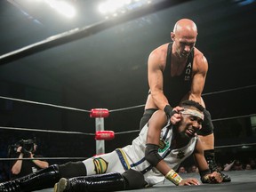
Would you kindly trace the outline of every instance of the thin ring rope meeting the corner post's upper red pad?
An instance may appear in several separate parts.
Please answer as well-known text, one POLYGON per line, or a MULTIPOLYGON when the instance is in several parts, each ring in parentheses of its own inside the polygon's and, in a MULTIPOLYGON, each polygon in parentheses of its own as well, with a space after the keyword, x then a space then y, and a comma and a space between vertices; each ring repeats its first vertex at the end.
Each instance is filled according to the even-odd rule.
MULTIPOLYGON (((242 90, 242 89, 245 89, 245 88, 252 88, 252 87, 256 87, 256 84, 247 85, 247 86, 244 86, 244 87, 236 87, 236 88, 233 88, 233 89, 228 89, 228 90, 223 90, 223 91, 208 92, 208 93, 202 94, 202 96, 217 94, 217 93, 220 93, 220 92, 232 92, 232 91, 237 91, 237 90, 242 90)), ((20 101, 20 102, 36 104, 36 105, 43 105, 43 106, 54 107, 54 108, 64 108, 64 109, 81 111, 81 112, 86 112, 86 113, 90 113, 91 112, 91 110, 86 110, 86 109, 81 109, 81 108, 70 108, 70 107, 54 105, 54 104, 49 104, 49 103, 44 103, 44 102, 37 102, 37 101, 33 101, 33 100, 20 100, 20 99, 4 97, 4 96, 0 96, 0 99, 15 100, 15 101, 20 101)), ((126 109, 131 109, 131 108, 141 108, 141 107, 145 107, 145 104, 141 104, 141 105, 137 105, 137 106, 133 106, 133 107, 127 107, 127 108, 110 109, 108 111, 109 112, 116 112, 116 111, 122 111, 122 110, 126 110, 126 109)))

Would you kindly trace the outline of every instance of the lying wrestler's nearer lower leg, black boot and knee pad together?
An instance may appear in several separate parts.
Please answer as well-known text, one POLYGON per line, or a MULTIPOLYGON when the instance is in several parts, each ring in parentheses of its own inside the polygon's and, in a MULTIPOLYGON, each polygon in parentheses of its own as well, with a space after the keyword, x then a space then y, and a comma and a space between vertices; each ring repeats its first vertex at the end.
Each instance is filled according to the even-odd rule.
POLYGON ((54 192, 92 192, 139 189, 146 185, 141 172, 127 171, 123 174, 110 172, 100 175, 61 178, 54 186, 54 192))

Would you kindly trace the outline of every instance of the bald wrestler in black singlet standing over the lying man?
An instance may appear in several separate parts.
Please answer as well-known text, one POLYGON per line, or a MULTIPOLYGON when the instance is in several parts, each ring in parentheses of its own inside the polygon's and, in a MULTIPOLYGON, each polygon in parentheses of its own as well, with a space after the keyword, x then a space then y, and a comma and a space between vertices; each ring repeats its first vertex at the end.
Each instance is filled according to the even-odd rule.
MULTIPOLYGON (((148 57, 149 92, 145 111, 140 120, 140 129, 147 124, 152 114, 163 110, 171 117, 171 123, 180 121, 180 114, 173 106, 182 100, 195 100, 204 106, 202 92, 208 71, 204 54, 196 47, 197 27, 193 20, 178 20, 171 33, 172 43, 157 47, 148 57)), ((182 108, 176 108, 180 110, 182 108)), ((204 146, 204 156, 212 172, 217 171, 214 156, 212 118, 204 109, 203 128, 198 132, 204 146)), ((221 172, 223 181, 231 181, 221 172)))

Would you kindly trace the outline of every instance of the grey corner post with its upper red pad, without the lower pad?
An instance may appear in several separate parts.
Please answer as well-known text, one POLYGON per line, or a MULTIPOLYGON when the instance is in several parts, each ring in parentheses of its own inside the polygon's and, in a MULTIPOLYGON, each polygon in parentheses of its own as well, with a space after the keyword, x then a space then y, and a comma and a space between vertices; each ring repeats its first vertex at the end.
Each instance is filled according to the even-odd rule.
MULTIPOLYGON (((109 116, 107 108, 92 108, 90 117, 95 118, 95 131, 104 131, 104 118, 109 116)), ((96 140, 96 155, 105 153, 105 140, 96 140)))

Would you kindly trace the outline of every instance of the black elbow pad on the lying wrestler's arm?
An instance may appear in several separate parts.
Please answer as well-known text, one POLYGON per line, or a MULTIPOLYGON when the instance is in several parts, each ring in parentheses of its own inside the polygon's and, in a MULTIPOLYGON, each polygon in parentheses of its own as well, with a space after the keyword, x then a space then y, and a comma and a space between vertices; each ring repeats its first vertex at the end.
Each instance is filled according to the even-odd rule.
POLYGON ((156 166, 156 164, 162 160, 162 157, 158 154, 158 148, 159 146, 156 144, 146 144, 145 159, 152 166, 156 166))

